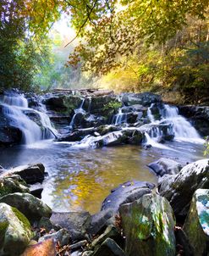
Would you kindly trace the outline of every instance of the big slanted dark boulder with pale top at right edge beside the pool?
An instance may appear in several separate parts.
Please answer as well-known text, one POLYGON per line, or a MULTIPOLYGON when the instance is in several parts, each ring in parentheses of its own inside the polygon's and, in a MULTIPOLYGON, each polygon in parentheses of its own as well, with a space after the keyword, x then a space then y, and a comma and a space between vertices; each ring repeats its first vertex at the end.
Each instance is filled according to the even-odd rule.
POLYGON ((185 216, 190 201, 198 188, 209 188, 209 159, 187 164, 179 174, 165 177, 158 186, 162 197, 170 202, 178 216, 185 216))

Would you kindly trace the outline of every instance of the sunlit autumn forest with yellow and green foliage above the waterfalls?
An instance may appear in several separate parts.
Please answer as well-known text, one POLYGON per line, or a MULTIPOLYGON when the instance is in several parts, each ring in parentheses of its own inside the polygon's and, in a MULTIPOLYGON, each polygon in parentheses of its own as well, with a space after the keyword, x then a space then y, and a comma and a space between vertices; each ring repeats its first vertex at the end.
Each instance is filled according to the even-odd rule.
POLYGON ((3 0, 1 89, 96 86, 209 103, 208 0, 3 0), (53 29, 69 17, 69 41, 53 29))

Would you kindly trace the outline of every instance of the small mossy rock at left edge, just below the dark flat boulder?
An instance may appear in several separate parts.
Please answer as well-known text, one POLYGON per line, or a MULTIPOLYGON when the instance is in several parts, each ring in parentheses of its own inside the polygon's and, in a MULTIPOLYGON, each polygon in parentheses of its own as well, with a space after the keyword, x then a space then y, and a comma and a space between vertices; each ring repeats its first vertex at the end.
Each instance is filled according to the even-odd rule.
POLYGON ((7 176, 0 178, 0 198, 9 193, 14 192, 30 192, 19 175, 7 176))

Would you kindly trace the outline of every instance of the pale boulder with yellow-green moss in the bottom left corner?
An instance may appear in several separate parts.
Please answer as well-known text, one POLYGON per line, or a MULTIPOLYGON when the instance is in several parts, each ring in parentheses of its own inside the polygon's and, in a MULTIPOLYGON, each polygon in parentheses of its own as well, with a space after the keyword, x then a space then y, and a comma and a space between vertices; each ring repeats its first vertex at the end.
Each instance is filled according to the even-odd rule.
POLYGON ((0 203, 0 255, 19 256, 32 238, 30 223, 19 210, 0 203))

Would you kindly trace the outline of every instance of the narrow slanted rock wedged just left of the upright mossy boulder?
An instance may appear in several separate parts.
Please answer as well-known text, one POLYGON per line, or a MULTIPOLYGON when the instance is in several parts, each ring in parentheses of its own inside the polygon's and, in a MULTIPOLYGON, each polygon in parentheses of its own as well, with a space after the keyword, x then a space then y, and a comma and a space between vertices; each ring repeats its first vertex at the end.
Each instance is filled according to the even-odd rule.
POLYGON ((101 236, 97 237, 92 243, 92 248, 95 248, 97 245, 102 244, 107 238, 112 238, 113 240, 119 240, 120 232, 117 227, 114 225, 107 226, 107 229, 102 233, 101 236))

